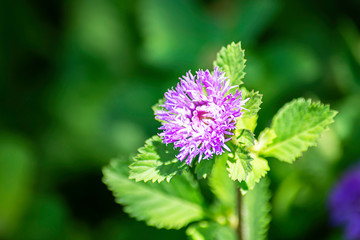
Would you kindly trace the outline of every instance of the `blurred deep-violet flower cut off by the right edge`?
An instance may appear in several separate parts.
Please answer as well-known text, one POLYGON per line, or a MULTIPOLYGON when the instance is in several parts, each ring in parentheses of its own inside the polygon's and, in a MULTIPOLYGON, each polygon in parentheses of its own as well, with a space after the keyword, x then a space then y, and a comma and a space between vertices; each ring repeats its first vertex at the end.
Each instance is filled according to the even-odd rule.
POLYGON ((360 166, 340 179, 330 194, 330 217, 333 225, 345 226, 346 239, 360 239, 360 166))

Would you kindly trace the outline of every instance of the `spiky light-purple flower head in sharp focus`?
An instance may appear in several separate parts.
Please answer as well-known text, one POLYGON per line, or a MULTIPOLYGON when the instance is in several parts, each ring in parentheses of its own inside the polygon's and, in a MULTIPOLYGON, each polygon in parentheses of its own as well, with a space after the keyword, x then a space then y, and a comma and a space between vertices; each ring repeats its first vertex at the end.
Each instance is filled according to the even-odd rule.
POLYGON ((224 149, 230 151, 225 143, 234 135, 236 118, 246 100, 239 90, 229 93, 237 86, 230 86, 224 74, 218 67, 212 75, 209 70, 199 70, 195 76, 189 71, 175 89, 165 93, 164 109, 155 113, 162 121, 159 135, 163 142, 180 148, 177 159, 186 159, 189 165, 196 156, 200 162, 224 149))

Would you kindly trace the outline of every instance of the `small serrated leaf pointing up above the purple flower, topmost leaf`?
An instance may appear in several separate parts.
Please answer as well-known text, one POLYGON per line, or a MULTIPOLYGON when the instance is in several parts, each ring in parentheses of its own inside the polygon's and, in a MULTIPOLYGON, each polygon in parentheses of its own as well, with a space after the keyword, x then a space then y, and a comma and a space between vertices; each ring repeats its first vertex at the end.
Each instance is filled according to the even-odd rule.
POLYGON ((241 85, 245 72, 245 51, 241 49, 241 43, 232 42, 226 48, 222 47, 217 54, 214 67, 219 66, 225 71, 225 76, 230 79, 230 85, 241 85))

